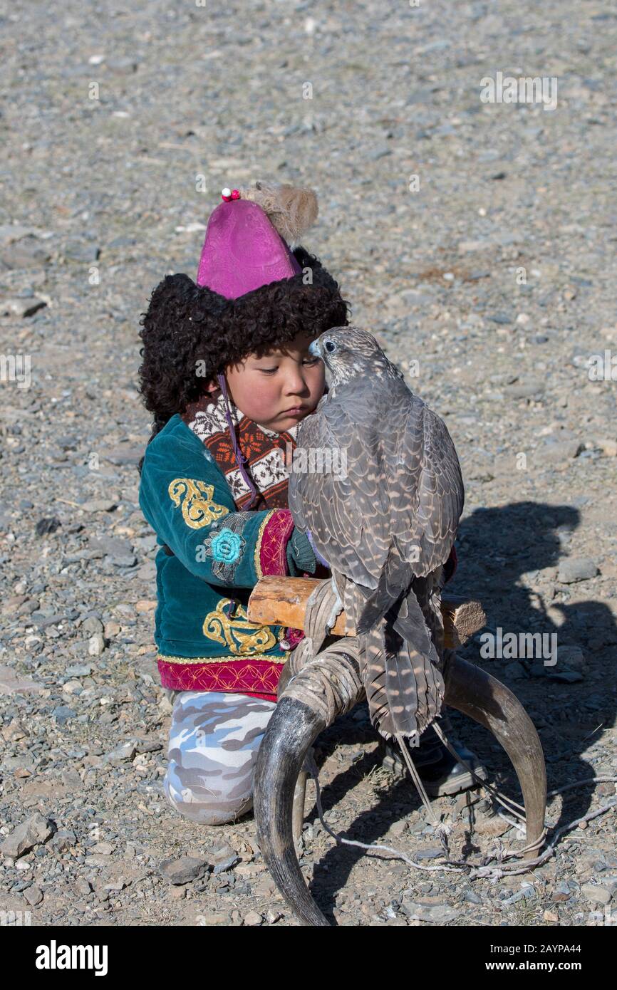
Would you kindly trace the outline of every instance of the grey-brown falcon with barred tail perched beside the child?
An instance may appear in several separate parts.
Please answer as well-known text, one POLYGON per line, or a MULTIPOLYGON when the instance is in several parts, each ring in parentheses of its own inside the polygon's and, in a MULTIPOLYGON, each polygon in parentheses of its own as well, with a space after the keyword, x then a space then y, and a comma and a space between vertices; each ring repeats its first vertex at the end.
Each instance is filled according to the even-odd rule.
POLYGON ((328 629, 345 607, 361 639, 372 725, 385 739, 413 737, 444 696, 441 592, 463 512, 461 465, 443 420, 371 334, 336 327, 310 350, 331 381, 297 446, 330 451, 326 463, 345 469, 292 464, 289 508, 332 570, 328 629))

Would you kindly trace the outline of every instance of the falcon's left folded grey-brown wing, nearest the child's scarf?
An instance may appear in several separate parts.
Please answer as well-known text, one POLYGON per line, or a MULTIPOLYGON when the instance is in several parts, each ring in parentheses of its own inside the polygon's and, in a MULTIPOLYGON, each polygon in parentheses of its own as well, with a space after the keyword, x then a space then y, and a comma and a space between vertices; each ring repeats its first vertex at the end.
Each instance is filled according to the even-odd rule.
POLYGON ((360 398, 351 392, 345 403, 330 398, 302 421, 298 446, 321 450, 325 467, 331 456, 332 469, 292 469, 288 504, 295 525, 311 531, 333 569, 372 589, 390 544, 390 505, 382 445, 374 429, 365 429, 360 398))

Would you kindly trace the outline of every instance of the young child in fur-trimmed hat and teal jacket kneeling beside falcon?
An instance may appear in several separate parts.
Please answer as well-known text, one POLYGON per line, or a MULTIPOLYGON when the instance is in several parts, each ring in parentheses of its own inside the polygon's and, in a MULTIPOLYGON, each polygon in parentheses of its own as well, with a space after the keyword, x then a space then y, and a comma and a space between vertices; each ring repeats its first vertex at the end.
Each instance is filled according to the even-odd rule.
MULTIPOLYGON (((263 574, 330 574, 287 508, 286 459, 326 387, 308 347, 348 324, 337 282, 288 244, 316 216, 311 190, 224 190, 197 284, 166 276, 143 320, 154 434, 140 505, 160 545, 154 640, 173 700, 164 789, 181 814, 207 825, 252 808, 278 678, 303 637, 250 622, 251 590, 263 574)), ((414 760, 424 751, 429 777, 456 775, 436 737, 425 737, 414 760)))

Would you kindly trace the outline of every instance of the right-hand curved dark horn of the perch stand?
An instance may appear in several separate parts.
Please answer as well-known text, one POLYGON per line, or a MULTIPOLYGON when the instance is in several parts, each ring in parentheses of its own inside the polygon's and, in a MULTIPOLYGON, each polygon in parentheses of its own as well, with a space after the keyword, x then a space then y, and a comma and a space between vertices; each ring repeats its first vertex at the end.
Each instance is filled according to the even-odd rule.
MULTIPOLYGON (((547 769, 536 727, 518 698, 485 670, 450 652, 444 669, 444 701, 495 737, 507 752, 523 792, 527 842, 540 839, 547 809, 547 769)), ((524 855, 533 859, 538 849, 524 855)))

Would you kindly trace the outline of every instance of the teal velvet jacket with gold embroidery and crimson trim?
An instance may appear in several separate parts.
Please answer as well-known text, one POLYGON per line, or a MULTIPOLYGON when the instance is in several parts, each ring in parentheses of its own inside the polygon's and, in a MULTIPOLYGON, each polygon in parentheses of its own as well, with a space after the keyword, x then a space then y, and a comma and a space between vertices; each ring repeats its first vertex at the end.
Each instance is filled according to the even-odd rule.
POLYGON ((238 512, 210 450, 178 415, 147 447, 140 506, 160 545, 154 640, 163 687, 275 700, 302 634, 249 622, 246 605, 262 575, 310 571, 290 563, 289 510, 238 512))

